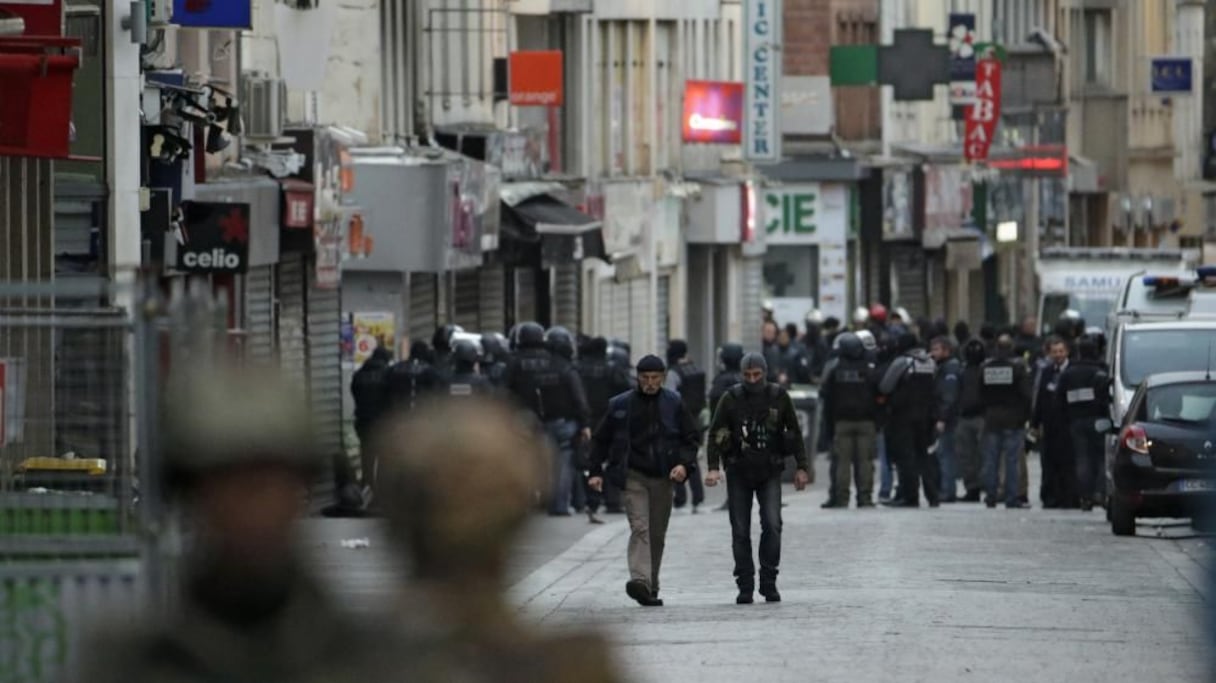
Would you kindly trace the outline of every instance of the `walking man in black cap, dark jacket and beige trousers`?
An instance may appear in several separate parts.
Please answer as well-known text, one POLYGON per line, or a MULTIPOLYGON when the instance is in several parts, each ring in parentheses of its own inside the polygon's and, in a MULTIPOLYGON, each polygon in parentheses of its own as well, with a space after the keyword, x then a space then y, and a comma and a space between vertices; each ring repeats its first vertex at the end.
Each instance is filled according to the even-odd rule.
POLYGON ((625 491, 629 515, 629 582, 625 593, 642 606, 662 606, 659 569, 671 519, 671 484, 697 465, 700 429, 680 394, 663 388, 666 366, 658 356, 637 362, 637 389, 613 397, 592 438, 596 491, 610 479, 625 491))

